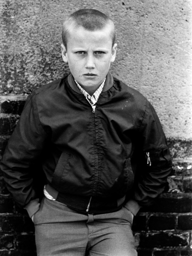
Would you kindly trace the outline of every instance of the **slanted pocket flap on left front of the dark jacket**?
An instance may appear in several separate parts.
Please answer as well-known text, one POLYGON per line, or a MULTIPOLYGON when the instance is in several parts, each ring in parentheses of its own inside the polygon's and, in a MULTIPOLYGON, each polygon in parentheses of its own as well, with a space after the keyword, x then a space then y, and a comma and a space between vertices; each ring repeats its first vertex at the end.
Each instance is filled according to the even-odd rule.
POLYGON ((61 184, 62 177, 68 173, 70 157, 71 157, 70 154, 67 154, 66 152, 62 152, 58 160, 57 166, 55 168, 55 171, 53 173, 53 178, 51 182, 53 185, 61 184))

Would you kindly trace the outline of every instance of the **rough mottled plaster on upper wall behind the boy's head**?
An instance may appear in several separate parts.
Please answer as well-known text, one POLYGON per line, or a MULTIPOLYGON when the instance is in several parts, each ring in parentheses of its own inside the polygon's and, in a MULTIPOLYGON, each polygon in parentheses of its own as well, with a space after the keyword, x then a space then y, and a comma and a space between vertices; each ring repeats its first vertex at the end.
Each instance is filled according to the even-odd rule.
POLYGON ((62 19, 79 8, 108 14, 117 27, 111 71, 155 107, 168 137, 192 138, 190 0, 0 0, 0 92, 28 94, 68 72, 62 19))

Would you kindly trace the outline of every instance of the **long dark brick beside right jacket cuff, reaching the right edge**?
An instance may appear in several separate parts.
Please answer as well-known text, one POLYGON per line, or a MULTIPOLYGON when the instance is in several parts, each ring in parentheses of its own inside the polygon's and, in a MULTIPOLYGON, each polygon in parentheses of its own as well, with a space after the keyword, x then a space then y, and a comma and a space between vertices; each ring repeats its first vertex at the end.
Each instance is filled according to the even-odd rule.
POLYGON ((152 212, 191 212, 191 193, 163 193, 151 207, 145 207, 141 211, 152 212))

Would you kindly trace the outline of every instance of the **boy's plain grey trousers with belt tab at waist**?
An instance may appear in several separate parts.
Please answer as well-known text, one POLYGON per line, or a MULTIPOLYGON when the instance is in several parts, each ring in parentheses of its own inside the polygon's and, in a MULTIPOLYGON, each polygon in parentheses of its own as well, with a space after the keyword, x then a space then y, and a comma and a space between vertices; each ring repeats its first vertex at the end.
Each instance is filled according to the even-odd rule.
POLYGON ((125 207, 83 215, 44 197, 34 215, 37 255, 136 256, 131 220, 125 207))

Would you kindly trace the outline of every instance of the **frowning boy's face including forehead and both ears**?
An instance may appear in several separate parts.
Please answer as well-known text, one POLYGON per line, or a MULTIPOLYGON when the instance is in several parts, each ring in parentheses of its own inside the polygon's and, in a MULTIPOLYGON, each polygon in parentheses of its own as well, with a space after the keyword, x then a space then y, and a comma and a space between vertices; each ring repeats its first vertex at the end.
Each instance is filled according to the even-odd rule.
POLYGON ((117 44, 112 47, 110 33, 109 26, 98 31, 72 28, 67 38, 67 51, 61 45, 63 61, 68 62, 73 77, 87 91, 99 87, 115 60, 117 44))

